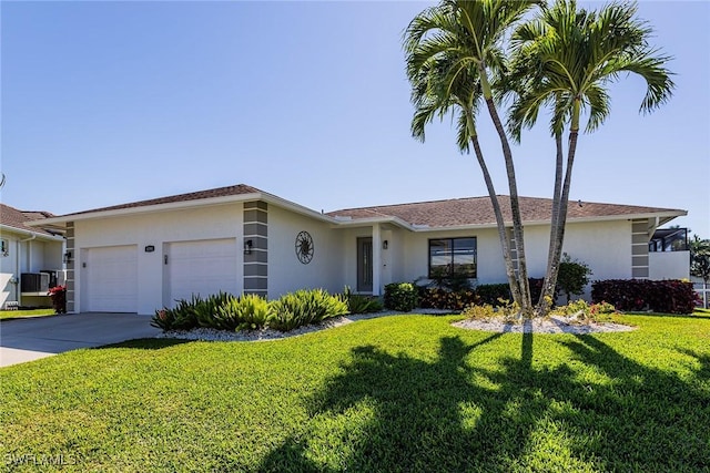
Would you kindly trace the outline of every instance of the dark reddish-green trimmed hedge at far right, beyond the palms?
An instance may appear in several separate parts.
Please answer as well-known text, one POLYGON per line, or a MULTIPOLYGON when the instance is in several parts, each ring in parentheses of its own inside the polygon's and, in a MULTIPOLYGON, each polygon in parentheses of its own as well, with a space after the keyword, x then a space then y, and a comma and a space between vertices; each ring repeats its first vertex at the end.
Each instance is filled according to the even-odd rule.
POLYGON ((608 301, 623 311, 692 313, 698 295, 680 280, 608 279, 591 285, 594 302, 608 301))

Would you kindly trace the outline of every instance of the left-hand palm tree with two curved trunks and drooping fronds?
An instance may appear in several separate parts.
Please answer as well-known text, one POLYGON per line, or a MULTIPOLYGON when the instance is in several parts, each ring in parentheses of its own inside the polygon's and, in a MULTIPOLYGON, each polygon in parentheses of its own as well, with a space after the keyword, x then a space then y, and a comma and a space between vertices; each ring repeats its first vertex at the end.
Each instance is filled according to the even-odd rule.
POLYGON ((434 116, 444 116, 458 110, 457 142, 462 151, 467 151, 470 142, 484 173, 496 213, 510 289, 525 315, 531 313, 531 304, 517 181, 513 153, 493 95, 491 74, 504 63, 501 44, 506 32, 536 3, 534 0, 442 0, 415 17, 405 31, 407 75, 417 109, 412 125, 413 134, 424 138, 424 126, 434 116), (478 144, 476 112, 481 101, 498 132, 506 164, 517 275, 513 267, 510 239, 478 144))

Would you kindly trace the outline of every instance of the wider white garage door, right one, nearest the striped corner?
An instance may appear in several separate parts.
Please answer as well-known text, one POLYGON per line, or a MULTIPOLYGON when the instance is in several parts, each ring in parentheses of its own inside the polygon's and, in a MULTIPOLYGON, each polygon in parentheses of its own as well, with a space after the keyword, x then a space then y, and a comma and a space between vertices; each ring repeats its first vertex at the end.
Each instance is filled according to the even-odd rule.
MULTIPOLYGON (((192 295, 236 294, 236 239, 176 241, 168 245, 165 306, 192 295)), ((240 271, 241 273, 241 271, 240 271)))

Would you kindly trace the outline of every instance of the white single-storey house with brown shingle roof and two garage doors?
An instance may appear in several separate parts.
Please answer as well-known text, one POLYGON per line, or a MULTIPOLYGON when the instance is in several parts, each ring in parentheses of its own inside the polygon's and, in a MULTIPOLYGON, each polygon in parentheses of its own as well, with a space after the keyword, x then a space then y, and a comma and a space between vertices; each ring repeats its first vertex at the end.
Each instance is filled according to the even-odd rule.
MULTIPOLYGON (((501 206, 509 207, 501 196, 501 206)), ((542 277, 551 202, 521 198, 529 275, 542 277)), ((570 203, 565 251, 595 279, 649 278, 653 232, 684 210, 570 203)), ((508 220, 509 218, 506 217, 508 220)), ((36 226, 39 223, 30 223, 36 226)), ((236 185, 49 218, 67 233, 68 310, 153 313, 192 294, 301 288, 381 295, 453 268, 505 282, 488 197, 327 214, 236 185)), ((662 277, 662 274, 660 274, 662 277)))

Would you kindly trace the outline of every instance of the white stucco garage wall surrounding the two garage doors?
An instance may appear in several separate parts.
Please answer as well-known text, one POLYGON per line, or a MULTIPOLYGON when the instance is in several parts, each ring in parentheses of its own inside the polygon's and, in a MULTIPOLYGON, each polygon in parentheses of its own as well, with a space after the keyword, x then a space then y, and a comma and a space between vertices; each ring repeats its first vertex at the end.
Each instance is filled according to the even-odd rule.
MULTIPOLYGON (((138 245, 138 312, 152 315, 163 307, 163 245, 171 241, 240 237, 242 204, 217 205, 200 209, 164 210, 160 213, 75 222, 75 311, 82 304, 82 251, 87 248, 138 245), (155 251, 145 253, 152 245, 155 251)), ((241 244, 241 239, 237 238, 241 244)), ((85 254, 85 251, 83 251, 85 254)), ((241 276, 242 251, 237 251, 241 276)), ((237 278, 241 285, 242 278, 237 278)), ((234 294, 241 294, 235 287, 234 294)))

